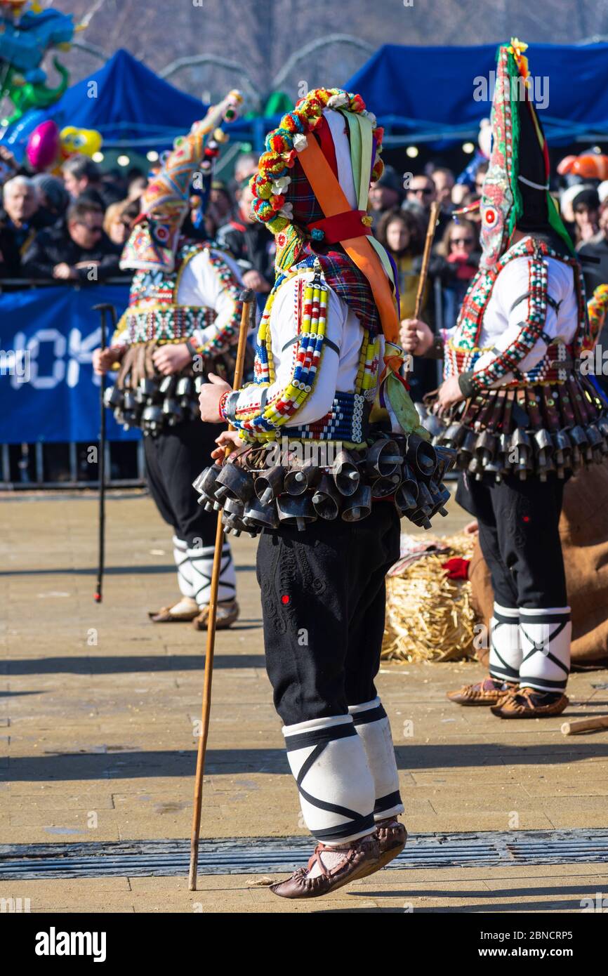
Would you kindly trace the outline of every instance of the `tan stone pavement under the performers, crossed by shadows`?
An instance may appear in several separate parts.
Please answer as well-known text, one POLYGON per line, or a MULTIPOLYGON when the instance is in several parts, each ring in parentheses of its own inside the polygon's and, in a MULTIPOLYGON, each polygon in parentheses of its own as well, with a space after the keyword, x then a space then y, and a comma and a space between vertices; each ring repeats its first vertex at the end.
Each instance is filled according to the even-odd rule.
MULTIPOLYGON (((98 606, 95 496, 0 506, 0 843, 189 837, 205 634, 147 622, 175 592, 166 526, 142 493, 110 496, 98 606)), ((440 529, 466 520, 451 503, 440 529)), ((305 834, 263 668, 255 546, 234 543, 241 618, 218 634, 204 837, 305 834)), ((501 722, 446 701, 481 673, 381 671, 409 832, 605 828, 608 734, 566 739, 561 718, 501 722)), ((608 676, 575 674, 569 693, 568 715, 606 712, 608 676)), ((298 904, 259 880, 201 875, 192 893, 182 877, 0 881, 0 898, 33 912, 559 912, 608 892, 608 867, 391 870, 298 904)))

